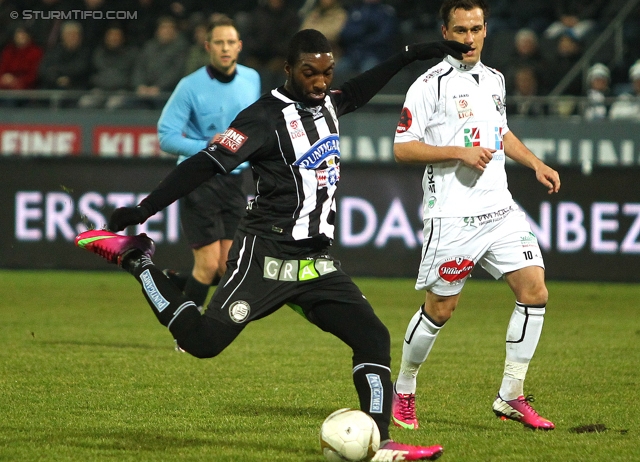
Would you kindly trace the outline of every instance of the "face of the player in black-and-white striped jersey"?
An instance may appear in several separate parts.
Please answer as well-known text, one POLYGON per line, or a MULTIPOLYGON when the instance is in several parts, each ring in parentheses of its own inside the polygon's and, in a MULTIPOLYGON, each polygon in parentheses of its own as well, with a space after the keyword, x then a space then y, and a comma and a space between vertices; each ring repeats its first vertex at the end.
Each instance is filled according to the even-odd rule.
POLYGON ((329 91, 334 67, 333 53, 301 53, 296 63, 285 64, 285 88, 307 106, 318 106, 329 91))

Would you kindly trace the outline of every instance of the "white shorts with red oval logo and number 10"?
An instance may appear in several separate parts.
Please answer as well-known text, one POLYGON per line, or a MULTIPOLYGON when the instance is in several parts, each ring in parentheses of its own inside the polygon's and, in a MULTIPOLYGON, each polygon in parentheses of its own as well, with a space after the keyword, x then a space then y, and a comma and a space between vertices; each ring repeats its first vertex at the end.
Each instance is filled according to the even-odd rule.
POLYGON ((516 205, 476 217, 432 218, 423 235, 417 290, 459 294, 478 263, 496 279, 527 266, 544 268, 538 240, 516 205))

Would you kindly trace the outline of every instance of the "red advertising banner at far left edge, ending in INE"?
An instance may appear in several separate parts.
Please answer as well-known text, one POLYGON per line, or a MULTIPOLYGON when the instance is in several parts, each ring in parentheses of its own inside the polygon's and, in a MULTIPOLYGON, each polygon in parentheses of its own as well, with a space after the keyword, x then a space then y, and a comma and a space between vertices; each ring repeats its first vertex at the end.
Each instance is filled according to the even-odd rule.
POLYGON ((81 147, 80 125, 0 124, 2 155, 79 155, 81 147))

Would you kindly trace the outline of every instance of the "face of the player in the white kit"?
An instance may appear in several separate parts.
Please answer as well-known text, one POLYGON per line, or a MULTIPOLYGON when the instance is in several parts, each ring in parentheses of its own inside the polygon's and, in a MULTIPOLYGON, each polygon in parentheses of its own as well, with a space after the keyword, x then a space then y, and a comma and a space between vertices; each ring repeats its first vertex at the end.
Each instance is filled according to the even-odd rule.
POLYGON ((474 65, 480 61, 480 54, 487 36, 486 23, 481 8, 464 10, 457 8, 449 17, 449 23, 442 26, 442 36, 445 40, 455 40, 473 48, 462 56, 462 62, 474 65))

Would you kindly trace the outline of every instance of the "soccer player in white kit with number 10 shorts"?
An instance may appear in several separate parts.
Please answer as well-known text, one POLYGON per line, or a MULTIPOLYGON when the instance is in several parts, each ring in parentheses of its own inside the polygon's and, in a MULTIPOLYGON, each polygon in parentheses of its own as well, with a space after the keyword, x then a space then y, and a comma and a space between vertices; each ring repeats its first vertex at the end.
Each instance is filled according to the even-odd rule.
POLYGON ((531 168, 548 192, 558 172, 509 130, 504 76, 482 64, 488 7, 484 0, 445 0, 442 35, 472 47, 462 61, 450 56, 409 88, 395 140, 398 162, 426 164, 424 242, 416 282, 424 305, 405 334, 394 387, 393 421, 416 429, 416 377, 451 317, 476 265, 504 278, 515 295, 507 327, 502 384, 493 411, 534 429, 554 424, 524 397, 523 382, 542 331, 548 292, 540 247, 507 187, 505 156, 531 168))

